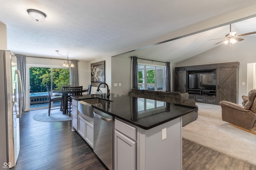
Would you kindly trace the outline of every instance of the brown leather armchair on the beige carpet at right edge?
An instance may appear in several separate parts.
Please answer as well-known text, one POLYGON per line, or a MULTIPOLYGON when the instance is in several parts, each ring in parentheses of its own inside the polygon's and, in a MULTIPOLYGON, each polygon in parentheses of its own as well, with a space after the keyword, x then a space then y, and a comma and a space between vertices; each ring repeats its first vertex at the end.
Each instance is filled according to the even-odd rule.
POLYGON ((243 106, 220 101, 222 120, 245 129, 256 130, 256 89, 243 96, 243 106))

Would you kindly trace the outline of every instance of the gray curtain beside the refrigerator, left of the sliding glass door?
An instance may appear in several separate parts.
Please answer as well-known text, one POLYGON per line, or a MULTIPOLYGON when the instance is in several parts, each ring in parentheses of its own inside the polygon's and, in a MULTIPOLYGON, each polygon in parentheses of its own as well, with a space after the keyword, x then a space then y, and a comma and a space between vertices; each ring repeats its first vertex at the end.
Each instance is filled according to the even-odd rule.
POLYGON ((20 70, 22 90, 23 90, 23 103, 22 103, 22 112, 25 111, 25 86, 26 86, 26 55, 16 54, 17 58, 17 69, 20 70))

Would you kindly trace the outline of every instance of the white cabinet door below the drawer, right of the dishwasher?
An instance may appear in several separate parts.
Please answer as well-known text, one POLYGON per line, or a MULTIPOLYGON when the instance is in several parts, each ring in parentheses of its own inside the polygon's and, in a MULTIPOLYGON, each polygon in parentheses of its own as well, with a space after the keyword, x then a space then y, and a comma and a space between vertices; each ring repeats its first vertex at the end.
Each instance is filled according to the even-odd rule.
POLYGON ((115 170, 136 170, 136 142, 115 130, 115 170))

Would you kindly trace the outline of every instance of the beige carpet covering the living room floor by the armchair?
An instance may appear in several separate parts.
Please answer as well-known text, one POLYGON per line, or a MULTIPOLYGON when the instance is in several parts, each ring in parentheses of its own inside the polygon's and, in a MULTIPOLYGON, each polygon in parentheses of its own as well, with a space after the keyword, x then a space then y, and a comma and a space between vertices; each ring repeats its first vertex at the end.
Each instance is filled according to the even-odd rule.
POLYGON ((220 106, 196 105, 198 119, 182 128, 183 138, 256 166, 256 135, 222 121, 220 106))

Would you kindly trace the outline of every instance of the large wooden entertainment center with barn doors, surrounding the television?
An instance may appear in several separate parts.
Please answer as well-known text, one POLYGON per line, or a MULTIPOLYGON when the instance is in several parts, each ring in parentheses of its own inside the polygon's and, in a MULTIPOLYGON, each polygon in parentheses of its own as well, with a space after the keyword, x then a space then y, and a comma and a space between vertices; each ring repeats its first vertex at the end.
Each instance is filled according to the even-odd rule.
POLYGON ((237 103, 239 62, 175 67, 175 91, 196 102, 237 103))

